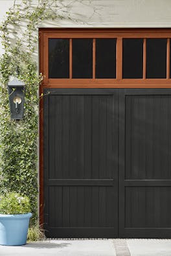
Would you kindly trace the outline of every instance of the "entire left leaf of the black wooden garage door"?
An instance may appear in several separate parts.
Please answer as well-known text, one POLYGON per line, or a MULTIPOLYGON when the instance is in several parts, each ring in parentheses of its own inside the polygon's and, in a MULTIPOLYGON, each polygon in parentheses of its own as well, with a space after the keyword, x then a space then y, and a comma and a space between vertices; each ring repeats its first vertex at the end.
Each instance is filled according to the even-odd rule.
POLYGON ((45 95, 47 237, 117 237, 118 91, 45 95))

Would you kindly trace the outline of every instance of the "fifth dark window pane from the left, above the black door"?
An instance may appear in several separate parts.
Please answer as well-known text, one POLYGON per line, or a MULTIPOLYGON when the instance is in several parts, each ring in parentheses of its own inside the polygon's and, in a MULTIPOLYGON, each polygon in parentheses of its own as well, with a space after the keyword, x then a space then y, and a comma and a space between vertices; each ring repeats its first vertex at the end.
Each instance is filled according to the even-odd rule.
POLYGON ((146 40, 146 78, 166 78, 166 39, 146 40))

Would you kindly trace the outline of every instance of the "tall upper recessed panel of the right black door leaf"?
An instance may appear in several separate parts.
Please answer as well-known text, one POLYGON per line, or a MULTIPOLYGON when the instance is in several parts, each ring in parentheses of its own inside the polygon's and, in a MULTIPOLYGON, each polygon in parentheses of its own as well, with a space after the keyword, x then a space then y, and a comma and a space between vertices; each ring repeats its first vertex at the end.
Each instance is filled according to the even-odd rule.
POLYGON ((171 178, 170 95, 126 96, 126 179, 171 178))

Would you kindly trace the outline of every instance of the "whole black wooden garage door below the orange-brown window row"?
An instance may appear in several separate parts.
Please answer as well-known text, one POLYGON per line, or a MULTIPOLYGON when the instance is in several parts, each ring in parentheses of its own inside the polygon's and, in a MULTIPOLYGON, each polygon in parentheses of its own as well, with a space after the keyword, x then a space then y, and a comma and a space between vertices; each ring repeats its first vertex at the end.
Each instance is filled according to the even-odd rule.
POLYGON ((171 237, 171 90, 44 93, 47 237, 171 237))

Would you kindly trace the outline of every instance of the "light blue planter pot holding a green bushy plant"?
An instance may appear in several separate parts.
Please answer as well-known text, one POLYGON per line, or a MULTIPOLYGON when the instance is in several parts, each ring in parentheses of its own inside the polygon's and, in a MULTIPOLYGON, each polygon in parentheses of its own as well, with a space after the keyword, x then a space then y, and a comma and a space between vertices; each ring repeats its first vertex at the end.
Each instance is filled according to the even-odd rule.
POLYGON ((0 244, 21 246, 27 242, 28 224, 32 213, 0 215, 0 244))

